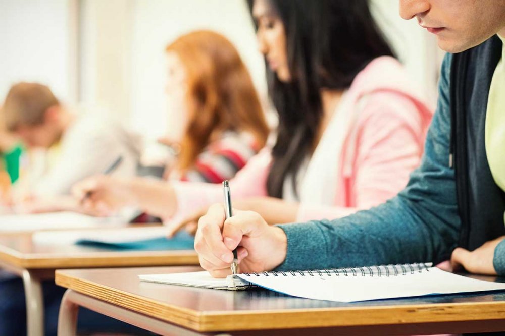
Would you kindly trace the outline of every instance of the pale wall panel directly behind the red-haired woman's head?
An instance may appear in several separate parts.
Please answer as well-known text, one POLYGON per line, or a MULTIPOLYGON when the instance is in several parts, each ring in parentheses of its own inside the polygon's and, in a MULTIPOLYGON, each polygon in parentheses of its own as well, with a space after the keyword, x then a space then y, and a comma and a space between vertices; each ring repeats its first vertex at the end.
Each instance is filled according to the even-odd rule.
POLYGON ((245 1, 137 0, 134 2, 132 124, 149 134, 164 133, 165 46, 181 34, 211 29, 237 47, 260 92, 266 95, 263 58, 245 1), (162 121, 162 123, 160 123, 162 121))

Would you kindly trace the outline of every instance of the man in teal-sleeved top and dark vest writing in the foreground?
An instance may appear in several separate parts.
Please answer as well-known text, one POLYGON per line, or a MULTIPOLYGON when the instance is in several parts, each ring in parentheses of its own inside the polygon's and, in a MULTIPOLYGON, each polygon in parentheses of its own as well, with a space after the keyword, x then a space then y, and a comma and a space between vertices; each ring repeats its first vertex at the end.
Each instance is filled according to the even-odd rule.
POLYGON ((406 189, 346 218, 277 227, 254 212, 225 221, 215 205, 195 238, 200 264, 214 276, 230 273, 238 245, 245 272, 437 263, 452 255, 470 272, 505 275, 505 2, 400 0, 400 14, 452 53, 421 166, 406 189))

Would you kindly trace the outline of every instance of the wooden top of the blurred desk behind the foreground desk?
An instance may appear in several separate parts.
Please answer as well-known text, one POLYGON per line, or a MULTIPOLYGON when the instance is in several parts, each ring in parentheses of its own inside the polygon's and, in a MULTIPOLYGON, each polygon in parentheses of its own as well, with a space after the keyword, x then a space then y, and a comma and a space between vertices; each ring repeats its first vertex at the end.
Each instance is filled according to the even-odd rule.
MULTIPOLYGON (((103 230, 109 234, 112 232, 111 229, 103 230)), ((142 228, 114 230, 142 230, 142 228)), ((33 233, 28 232, 0 234, 0 263, 26 269, 196 265, 198 257, 192 250, 112 251, 74 244, 41 244, 34 241, 33 233)))

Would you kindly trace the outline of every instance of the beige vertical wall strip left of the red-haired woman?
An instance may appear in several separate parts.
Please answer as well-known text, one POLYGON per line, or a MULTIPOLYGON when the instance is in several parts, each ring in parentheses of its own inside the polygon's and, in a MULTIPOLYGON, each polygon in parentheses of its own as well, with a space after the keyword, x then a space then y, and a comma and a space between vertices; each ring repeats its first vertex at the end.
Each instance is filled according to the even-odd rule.
POLYGON ((134 2, 81 0, 80 102, 128 119, 132 95, 134 2))

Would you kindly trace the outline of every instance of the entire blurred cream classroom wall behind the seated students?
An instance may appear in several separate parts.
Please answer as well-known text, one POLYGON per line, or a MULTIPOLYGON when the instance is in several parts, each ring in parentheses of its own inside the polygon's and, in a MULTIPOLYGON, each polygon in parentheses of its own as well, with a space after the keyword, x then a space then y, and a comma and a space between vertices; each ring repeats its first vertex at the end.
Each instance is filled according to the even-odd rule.
MULTIPOLYGON (((431 101, 441 53, 397 0, 371 0, 400 60, 431 101)), ((167 132, 164 48, 213 29, 239 50, 266 99, 263 58, 244 0, 0 0, 0 96, 19 80, 49 84, 64 100, 99 104, 154 139, 167 132)))

